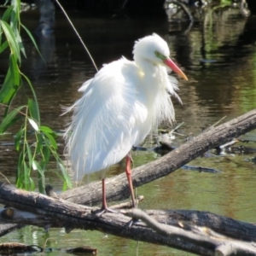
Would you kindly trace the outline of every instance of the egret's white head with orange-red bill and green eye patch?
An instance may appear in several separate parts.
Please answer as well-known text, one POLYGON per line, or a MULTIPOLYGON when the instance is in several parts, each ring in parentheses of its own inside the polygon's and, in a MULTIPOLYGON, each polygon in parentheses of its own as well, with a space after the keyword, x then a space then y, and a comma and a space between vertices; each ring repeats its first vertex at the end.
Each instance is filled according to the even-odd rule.
POLYGON ((139 64, 141 61, 149 61, 153 65, 164 65, 170 67, 175 73, 183 79, 186 75, 170 59, 170 49, 166 41, 159 35, 153 33, 151 36, 139 39, 133 49, 134 61, 139 64))

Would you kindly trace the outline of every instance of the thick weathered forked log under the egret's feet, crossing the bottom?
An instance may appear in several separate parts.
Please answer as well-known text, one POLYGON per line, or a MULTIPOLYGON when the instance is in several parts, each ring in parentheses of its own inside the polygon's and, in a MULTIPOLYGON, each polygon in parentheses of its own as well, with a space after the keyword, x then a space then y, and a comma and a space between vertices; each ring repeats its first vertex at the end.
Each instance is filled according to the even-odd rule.
POLYGON ((100 230, 114 236, 157 243, 201 255, 214 255, 216 252, 218 255, 224 255, 221 253, 226 251, 230 252, 228 255, 234 252, 237 255, 240 252, 243 253, 241 255, 256 254, 256 247, 253 247, 256 241, 256 227, 253 224, 210 212, 142 212, 136 209, 107 212, 97 216, 96 213, 101 211, 99 208, 84 207, 59 198, 26 192, 4 183, 0 183, 0 202, 19 209, 16 214, 13 208, 3 209, 0 213, 2 223, 20 223, 20 214, 25 217, 29 214, 30 218, 26 219, 26 224, 31 222, 44 226, 45 229, 62 226, 67 232, 73 229, 100 230), (7 214, 8 212, 11 214, 7 214), (35 221, 37 215, 41 220, 38 224, 35 221), (19 218, 15 218, 16 216, 19 218), (143 219, 148 226, 142 221, 134 221, 130 226, 130 217, 143 219), (43 223, 42 220, 46 222, 43 223), (229 248, 234 248, 235 251, 229 251, 229 248))

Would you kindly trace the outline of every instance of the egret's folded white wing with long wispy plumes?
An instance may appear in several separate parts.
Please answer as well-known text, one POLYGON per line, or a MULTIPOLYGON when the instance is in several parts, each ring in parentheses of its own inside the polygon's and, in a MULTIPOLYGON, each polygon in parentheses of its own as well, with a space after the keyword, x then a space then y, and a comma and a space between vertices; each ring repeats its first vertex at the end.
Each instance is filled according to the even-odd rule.
POLYGON ((133 62, 121 59, 102 67, 82 85, 83 96, 69 108, 74 113, 66 132, 76 179, 119 162, 147 135, 142 136, 138 128, 148 111, 137 100, 137 72, 133 62))

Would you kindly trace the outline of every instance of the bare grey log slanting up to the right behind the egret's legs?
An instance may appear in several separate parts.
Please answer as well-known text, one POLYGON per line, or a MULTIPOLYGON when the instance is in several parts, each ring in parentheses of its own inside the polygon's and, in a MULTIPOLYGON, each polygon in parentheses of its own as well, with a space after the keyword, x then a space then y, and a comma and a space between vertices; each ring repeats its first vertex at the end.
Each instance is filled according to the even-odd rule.
MULTIPOLYGON (((199 136, 184 143, 169 154, 147 165, 132 170, 133 187, 137 188, 157 178, 176 171, 190 160, 206 153, 211 148, 232 141, 256 128, 256 109, 232 119, 223 125, 212 127, 199 136)), ((130 196, 125 173, 106 178, 107 201, 124 200, 130 196)), ((102 182, 93 182, 85 186, 61 193, 61 198, 79 204, 94 206, 102 201, 102 182)))

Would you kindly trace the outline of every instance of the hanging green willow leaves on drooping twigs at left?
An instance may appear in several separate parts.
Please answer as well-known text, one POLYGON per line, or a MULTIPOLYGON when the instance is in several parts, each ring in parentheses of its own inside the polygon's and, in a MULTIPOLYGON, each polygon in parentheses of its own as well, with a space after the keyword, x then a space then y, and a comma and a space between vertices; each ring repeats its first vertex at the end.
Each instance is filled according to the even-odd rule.
POLYGON ((61 170, 63 189, 71 187, 66 168, 57 152, 55 132, 49 127, 41 125, 40 112, 36 92, 30 79, 21 73, 21 57, 26 57, 26 51, 20 38, 20 27, 23 28, 32 43, 38 49, 32 34, 20 23, 20 0, 12 0, 11 5, 0 17, 0 54, 9 49, 9 69, 6 73, 0 90, 0 104, 5 106, 3 120, 0 124, 0 134, 10 126, 21 120, 20 130, 15 134, 15 149, 20 152, 16 185, 19 188, 33 190, 35 183, 32 180, 32 171, 38 172, 38 189, 44 193, 44 171, 53 156, 61 170), (26 105, 18 108, 12 107, 18 91, 27 86, 32 91, 32 98, 27 97, 26 105), (32 136, 28 140, 28 130, 32 129, 32 136))

